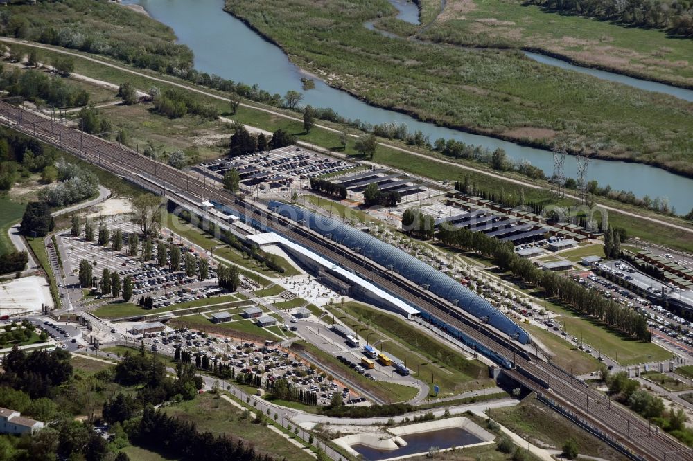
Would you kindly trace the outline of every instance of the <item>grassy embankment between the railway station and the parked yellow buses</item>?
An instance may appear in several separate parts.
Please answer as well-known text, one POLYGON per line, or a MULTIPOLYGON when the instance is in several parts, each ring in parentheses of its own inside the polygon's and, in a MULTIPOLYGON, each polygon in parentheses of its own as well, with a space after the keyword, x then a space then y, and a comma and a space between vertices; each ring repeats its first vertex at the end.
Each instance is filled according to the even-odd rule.
POLYGON ((354 321, 336 313, 335 315, 363 338, 371 332, 379 336, 378 340, 371 338, 370 343, 376 344, 385 354, 392 354, 397 359, 405 361, 412 374, 421 370, 417 378, 428 383, 431 392, 434 384, 441 388, 439 395, 452 395, 494 386, 486 365, 466 359, 459 352, 409 325, 406 320, 358 302, 344 303, 344 311, 358 320, 354 321), (376 343, 387 338, 396 340, 403 347, 392 341, 376 343))

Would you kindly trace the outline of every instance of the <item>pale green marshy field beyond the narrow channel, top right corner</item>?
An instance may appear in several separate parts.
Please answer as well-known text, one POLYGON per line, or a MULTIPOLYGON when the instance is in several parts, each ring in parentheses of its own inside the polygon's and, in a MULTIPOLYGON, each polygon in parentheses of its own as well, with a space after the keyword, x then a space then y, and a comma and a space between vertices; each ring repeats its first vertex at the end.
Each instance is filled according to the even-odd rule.
POLYGON ((519 0, 448 0, 444 13, 422 37, 462 45, 538 49, 588 66, 693 84, 690 40, 669 37, 663 30, 551 12, 519 0))

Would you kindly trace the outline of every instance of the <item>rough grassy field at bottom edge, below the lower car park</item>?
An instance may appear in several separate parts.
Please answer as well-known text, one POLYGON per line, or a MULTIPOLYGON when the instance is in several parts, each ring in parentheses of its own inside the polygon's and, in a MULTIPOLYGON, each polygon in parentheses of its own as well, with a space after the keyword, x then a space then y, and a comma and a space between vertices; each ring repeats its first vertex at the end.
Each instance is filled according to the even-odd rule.
POLYGON ((278 459, 313 460, 306 451, 291 444, 284 437, 277 437, 277 434, 263 424, 253 424, 251 419, 244 417, 243 410, 210 393, 198 395, 194 400, 167 406, 164 411, 170 416, 195 424, 198 431, 209 431, 214 435, 225 434, 234 439, 245 440, 254 445, 256 451, 270 453, 278 459))

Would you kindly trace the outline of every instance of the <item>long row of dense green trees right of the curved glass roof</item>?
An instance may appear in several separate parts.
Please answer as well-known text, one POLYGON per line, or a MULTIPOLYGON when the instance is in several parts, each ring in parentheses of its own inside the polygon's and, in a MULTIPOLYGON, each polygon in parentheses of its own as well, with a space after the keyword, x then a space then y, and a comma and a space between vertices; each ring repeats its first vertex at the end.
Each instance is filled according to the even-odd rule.
POLYGON ((515 277, 542 287, 550 296, 561 298, 575 310, 603 321, 608 327, 642 341, 651 340, 647 318, 642 314, 605 299, 599 291, 586 289, 571 278, 539 269, 531 261, 519 257, 511 242, 501 242, 484 233, 449 226, 441 226, 437 237, 444 244, 493 257, 503 271, 509 270, 515 277))

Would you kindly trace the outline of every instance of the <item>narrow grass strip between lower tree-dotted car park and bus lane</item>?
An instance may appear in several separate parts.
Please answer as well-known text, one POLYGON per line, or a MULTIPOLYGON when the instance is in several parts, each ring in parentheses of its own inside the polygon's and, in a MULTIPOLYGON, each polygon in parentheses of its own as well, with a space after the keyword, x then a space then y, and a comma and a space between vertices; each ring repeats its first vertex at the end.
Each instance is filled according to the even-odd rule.
MULTIPOLYGON (((356 381, 360 387, 388 403, 410 400, 414 398, 418 392, 416 388, 410 386, 402 386, 401 384, 388 383, 385 381, 371 381, 371 379, 358 374, 347 365, 344 365, 344 363, 338 361, 335 356, 305 341, 295 341, 292 343, 291 347, 294 350, 306 350, 306 352, 315 357, 319 363, 328 365, 331 370, 340 370, 340 373, 335 378, 338 379, 340 376, 348 376, 352 381, 356 381)), ((327 372, 327 374, 332 373, 327 372)))

